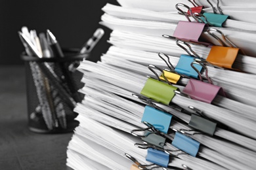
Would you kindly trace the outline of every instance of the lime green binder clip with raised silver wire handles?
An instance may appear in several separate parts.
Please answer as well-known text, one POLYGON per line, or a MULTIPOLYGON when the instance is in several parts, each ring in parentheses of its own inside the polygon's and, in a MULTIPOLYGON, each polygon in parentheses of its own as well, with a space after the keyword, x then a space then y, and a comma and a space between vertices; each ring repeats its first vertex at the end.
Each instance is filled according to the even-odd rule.
MULTIPOLYGON (((158 80, 149 77, 148 80, 146 80, 146 83, 140 93, 146 97, 149 97, 150 99, 154 99, 155 101, 158 101, 165 105, 169 105, 171 99, 173 99, 175 95, 174 91, 178 90, 178 88, 171 86, 171 83, 166 78, 165 81, 168 84, 162 82, 159 76, 156 74, 155 71, 153 71, 152 68, 158 69, 160 71, 161 69, 154 65, 148 65, 148 68, 157 76, 158 80)), ((163 77, 165 76, 163 75, 163 77)))

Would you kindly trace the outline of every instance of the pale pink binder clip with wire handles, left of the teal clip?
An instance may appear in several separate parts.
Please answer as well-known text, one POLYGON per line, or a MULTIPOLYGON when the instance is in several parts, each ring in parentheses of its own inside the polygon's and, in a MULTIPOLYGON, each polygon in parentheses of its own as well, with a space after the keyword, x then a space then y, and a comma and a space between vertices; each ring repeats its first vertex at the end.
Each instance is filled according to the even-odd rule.
POLYGON ((192 42, 199 42, 199 43, 205 44, 205 42, 200 42, 200 35, 203 32, 205 24, 199 22, 198 18, 196 18, 195 15, 192 13, 192 10, 190 9, 190 7, 182 3, 177 3, 175 7, 177 10, 182 12, 184 16, 186 16, 188 22, 179 21, 173 33, 173 37, 176 37, 177 39, 181 39, 184 41, 192 41, 192 42), (186 14, 186 12, 181 10, 179 6, 186 7, 190 11, 190 14, 192 14, 191 16, 194 18, 194 20, 196 20, 196 22, 191 22, 190 18, 188 17, 188 14, 186 14))

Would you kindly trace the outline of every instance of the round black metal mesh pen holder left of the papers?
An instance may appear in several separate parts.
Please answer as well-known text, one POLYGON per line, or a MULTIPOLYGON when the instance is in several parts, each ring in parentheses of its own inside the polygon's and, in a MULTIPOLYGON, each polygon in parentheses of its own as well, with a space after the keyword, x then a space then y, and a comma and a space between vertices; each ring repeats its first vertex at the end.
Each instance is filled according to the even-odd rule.
POLYGON ((28 126, 37 133, 66 133, 78 126, 74 107, 83 99, 82 73, 76 70, 89 54, 63 49, 64 58, 37 58, 21 54, 26 68, 28 126))

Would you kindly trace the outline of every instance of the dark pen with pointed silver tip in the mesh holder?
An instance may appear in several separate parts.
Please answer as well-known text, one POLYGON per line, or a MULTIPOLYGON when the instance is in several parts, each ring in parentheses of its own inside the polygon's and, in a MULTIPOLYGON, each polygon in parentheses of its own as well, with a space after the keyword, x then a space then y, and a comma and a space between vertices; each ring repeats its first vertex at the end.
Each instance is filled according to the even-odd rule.
MULTIPOLYGON (((58 58, 64 58, 64 54, 60 48, 60 45, 58 44, 58 41, 56 40, 56 37, 54 37, 53 33, 51 33, 49 29, 47 29, 47 36, 54 56, 58 58)), ((79 96, 79 93, 77 93, 77 87, 74 84, 74 80, 70 75, 70 72, 68 71, 68 67, 66 67, 64 63, 59 63, 57 67, 60 67, 61 69, 60 71, 58 71, 58 69, 56 71, 58 71, 58 74, 62 76, 64 80, 64 86, 67 84, 67 87, 69 87, 75 101, 81 101, 81 97, 79 96)))

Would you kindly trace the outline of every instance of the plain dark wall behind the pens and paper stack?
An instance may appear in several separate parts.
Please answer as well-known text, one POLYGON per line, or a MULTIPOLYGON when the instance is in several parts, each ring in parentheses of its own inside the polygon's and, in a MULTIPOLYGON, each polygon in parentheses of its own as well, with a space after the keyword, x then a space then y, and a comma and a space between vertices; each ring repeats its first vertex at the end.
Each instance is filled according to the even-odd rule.
POLYGON ((0 65, 23 64, 20 53, 24 47, 17 33, 22 26, 35 29, 37 34, 50 29, 64 48, 80 48, 96 28, 102 27, 105 35, 89 59, 97 61, 110 46, 106 42, 110 29, 98 24, 106 3, 117 5, 115 0, 1 0, 0 65))

